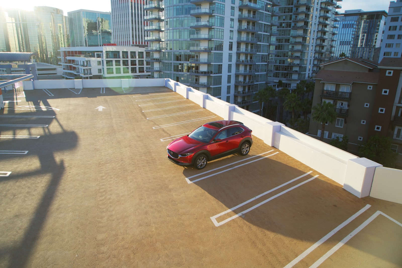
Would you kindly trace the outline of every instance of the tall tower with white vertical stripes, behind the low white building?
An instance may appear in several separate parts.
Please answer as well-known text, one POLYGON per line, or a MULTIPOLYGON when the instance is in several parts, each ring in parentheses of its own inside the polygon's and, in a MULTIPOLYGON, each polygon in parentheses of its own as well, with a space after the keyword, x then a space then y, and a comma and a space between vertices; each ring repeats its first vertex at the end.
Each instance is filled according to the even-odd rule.
POLYGON ((144 1, 111 0, 113 43, 146 47, 144 1))

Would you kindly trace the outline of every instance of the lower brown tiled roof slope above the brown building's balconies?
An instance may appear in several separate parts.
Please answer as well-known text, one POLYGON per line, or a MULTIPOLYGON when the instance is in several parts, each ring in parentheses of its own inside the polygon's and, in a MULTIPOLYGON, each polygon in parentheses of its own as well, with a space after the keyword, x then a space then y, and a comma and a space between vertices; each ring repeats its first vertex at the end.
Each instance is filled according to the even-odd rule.
POLYGON ((314 76, 313 79, 321 79, 321 82, 336 83, 336 84, 352 84, 367 83, 377 84, 379 73, 373 72, 348 72, 348 71, 332 71, 321 70, 314 76))

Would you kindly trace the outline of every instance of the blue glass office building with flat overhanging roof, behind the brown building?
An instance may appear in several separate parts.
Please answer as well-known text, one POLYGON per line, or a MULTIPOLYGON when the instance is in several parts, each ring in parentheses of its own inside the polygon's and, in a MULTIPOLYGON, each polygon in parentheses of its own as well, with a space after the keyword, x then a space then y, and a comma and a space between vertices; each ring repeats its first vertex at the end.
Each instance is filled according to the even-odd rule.
POLYGON ((334 57, 345 53, 347 57, 363 58, 378 61, 381 35, 384 29, 387 12, 346 10, 335 25, 338 39, 335 42, 334 57))

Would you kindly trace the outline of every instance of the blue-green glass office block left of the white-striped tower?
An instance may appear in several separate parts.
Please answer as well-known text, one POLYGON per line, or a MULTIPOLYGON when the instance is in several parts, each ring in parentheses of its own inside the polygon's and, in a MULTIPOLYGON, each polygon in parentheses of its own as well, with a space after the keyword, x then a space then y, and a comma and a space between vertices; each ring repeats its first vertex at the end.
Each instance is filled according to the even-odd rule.
POLYGON ((67 14, 72 47, 99 47, 112 43, 110 12, 80 9, 67 14))

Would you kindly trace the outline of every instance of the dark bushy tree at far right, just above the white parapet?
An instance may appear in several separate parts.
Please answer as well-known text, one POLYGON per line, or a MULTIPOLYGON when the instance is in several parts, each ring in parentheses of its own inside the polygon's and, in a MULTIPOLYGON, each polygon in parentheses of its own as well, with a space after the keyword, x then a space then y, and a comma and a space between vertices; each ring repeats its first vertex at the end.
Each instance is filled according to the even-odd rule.
POLYGON ((390 137, 371 136, 363 145, 359 146, 359 156, 365 157, 383 166, 393 168, 398 153, 391 150, 390 137))

